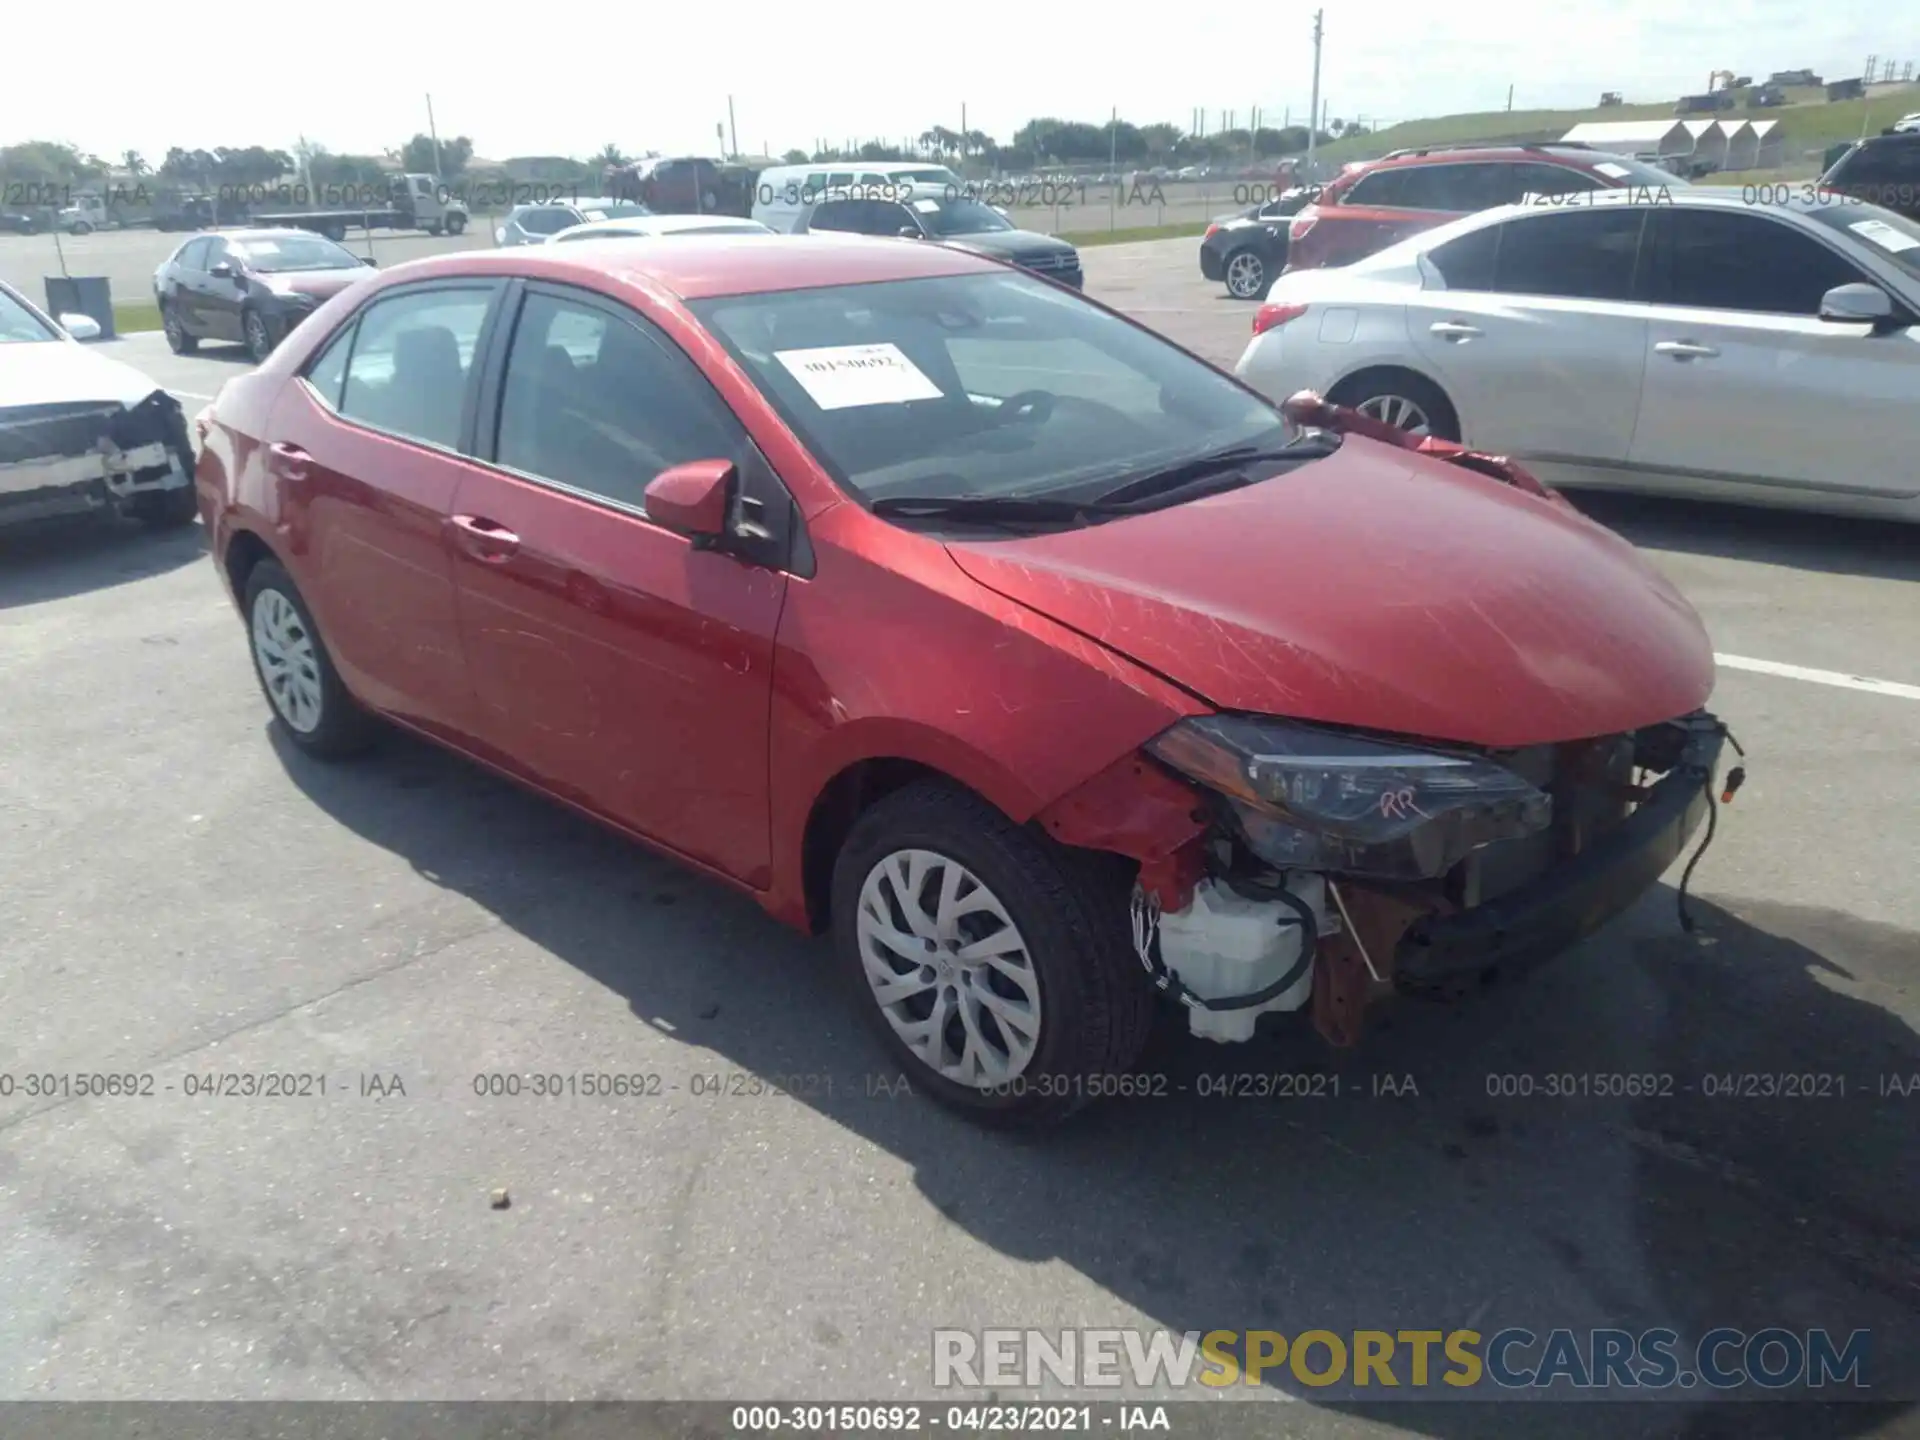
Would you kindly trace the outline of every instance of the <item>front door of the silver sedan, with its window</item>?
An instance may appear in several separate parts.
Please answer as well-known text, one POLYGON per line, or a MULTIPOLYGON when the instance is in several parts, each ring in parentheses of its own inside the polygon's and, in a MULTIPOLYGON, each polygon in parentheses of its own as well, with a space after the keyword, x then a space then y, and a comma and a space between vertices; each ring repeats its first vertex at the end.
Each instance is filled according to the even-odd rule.
POLYGON ((1820 319, 1820 296, 1872 278, 1764 211, 1659 207, 1653 225, 1634 467, 1699 493, 1920 493, 1920 330, 1820 319))

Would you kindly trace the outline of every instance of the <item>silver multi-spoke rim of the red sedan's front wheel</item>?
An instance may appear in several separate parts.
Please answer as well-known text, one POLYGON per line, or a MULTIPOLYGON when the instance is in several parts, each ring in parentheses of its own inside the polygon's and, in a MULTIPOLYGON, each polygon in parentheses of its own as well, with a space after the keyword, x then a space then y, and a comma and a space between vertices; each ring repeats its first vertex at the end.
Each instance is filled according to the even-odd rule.
POLYGON ((1020 925, 958 860, 893 851, 866 876, 854 920, 881 1016, 956 1085, 1006 1085, 1041 1039, 1041 983, 1020 925))

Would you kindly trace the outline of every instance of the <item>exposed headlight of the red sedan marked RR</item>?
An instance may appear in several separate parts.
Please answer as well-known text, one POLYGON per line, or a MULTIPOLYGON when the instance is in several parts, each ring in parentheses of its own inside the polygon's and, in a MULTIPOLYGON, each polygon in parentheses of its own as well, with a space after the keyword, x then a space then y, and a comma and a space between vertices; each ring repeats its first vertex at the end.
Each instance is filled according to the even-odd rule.
POLYGON ((1227 797, 1246 843, 1281 870, 1434 879, 1553 818, 1546 791, 1492 760, 1288 720, 1194 716, 1146 749, 1227 797))

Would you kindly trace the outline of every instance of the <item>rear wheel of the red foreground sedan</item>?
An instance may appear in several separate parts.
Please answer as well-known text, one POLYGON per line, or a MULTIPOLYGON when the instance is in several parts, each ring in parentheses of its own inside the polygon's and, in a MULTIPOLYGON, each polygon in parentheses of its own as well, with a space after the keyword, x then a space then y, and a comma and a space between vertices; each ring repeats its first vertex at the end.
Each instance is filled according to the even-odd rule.
POLYGON ((248 651, 273 720, 294 745, 324 760, 357 755, 374 724, 348 693, 307 603, 278 561, 246 582, 248 651))

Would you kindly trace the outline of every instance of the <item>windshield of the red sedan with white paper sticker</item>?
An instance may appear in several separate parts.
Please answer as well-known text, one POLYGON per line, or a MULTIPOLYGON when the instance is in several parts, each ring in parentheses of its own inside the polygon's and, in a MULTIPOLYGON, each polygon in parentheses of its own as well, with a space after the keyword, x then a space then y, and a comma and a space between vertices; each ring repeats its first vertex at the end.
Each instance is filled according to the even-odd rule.
POLYGON ((1025 275, 691 301, 833 478, 866 501, 1079 499, 1231 445, 1277 411, 1160 336, 1025 275))

